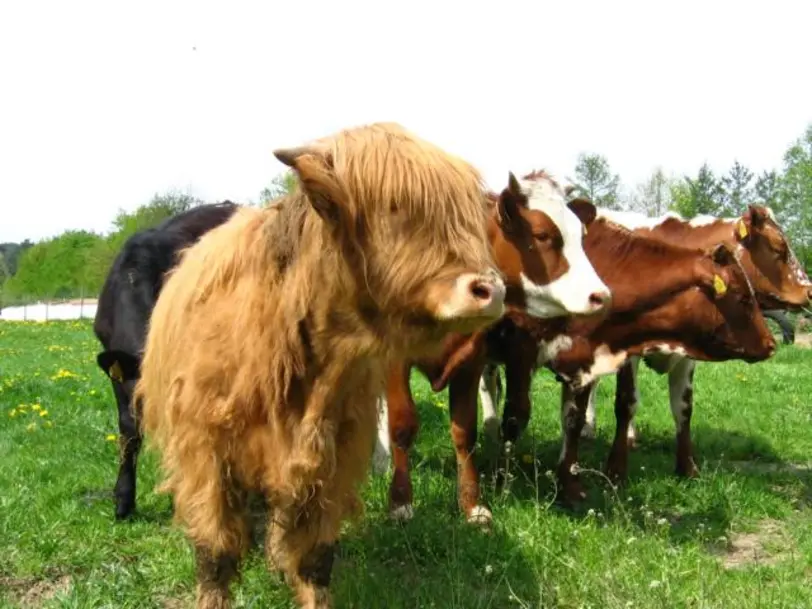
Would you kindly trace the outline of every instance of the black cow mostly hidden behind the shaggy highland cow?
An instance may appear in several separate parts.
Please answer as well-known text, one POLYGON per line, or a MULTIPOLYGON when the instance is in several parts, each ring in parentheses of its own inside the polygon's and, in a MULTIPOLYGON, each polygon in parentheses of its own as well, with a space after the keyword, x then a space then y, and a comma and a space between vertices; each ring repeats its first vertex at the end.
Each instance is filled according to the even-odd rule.
POLYGON ((110 377, 118 402, 119 470, 116 479, 116 518, 135 509, 135 464, 141 449, 138 408, 132 394, 141 371, 147 323, 163 286, 164 275, 177 254, 237 210, 231 201, 201 205, 167 218, 154 228, 132 235, 124 243, 99 296, 93 331, 104 351, 96 357, 110 377))

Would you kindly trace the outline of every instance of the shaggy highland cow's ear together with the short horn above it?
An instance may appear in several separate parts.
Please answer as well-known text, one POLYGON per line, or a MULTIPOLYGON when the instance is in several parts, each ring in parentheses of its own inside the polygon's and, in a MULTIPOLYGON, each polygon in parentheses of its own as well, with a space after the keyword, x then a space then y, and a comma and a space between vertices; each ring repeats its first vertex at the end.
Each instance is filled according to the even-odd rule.
POLYGON ((336 179, 328 152, 302 146, 274 150, 274 156, 296 172, 310 204, 325 222, 333 226, 342 222, 346 195, 336 179))

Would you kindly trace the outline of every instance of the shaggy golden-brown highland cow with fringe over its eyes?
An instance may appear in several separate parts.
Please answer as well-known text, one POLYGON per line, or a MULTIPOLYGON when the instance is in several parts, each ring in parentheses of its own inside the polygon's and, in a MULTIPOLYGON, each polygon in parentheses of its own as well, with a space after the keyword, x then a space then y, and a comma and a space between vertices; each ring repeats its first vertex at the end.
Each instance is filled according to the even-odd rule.
POLYGON ((303 607, 329 607, 384 371, 504 309, 485 190, 467 163, 389 123, 274 154, 298 188, 184 252, 136 388, 195 547, 199 609, 230 604, 252 493, 272 515, 269 560, 303 607))

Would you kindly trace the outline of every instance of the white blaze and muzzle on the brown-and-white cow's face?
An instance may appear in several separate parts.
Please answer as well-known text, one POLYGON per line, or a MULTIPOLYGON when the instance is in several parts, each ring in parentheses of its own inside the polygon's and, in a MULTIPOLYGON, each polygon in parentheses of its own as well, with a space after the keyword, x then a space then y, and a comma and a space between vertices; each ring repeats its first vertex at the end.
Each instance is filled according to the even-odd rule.
POLYGON ((567 207, 564 192, 548 180, 523 180, 522 189, 530 209, 540 211, 556 225, 564 240, 563 256, 569 269, 546 285, 533 283, 522 274, 527 312, 533 317, 549 318, 588 314, 596 310, 593 294, 609 294, 584 252, 583 224, 567 207))

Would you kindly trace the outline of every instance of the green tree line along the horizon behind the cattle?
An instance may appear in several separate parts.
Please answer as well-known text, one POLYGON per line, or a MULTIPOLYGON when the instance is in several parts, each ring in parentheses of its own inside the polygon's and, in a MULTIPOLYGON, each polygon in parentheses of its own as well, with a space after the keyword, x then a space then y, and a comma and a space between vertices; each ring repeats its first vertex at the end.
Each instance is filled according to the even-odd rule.
MULTIPOLYGON (((640 184, 629 186, 612 171, 605 156, 584 153, 569 179, 580 195, 598 206, 649 216, 674 211, 685 218, 732 217, 744 213, 750 203, 768 205, 802 264, 812 268, 812 124, 785 151, 781 168, 759 175, 738 161, 720 175, 705 163, 690 176, 668 175, 658 167, 640 184)), ((295 183, 292 172, 279 174, 262 190, 258 204, 290 191, 295 183)), ((98 295, 130 235, 202 203, 175 191, 156 194, 133 212, 119 210, 105 235, 70 230, 36 244, 28 240, 0 244, 0 305, 31 298, 98 295)))

